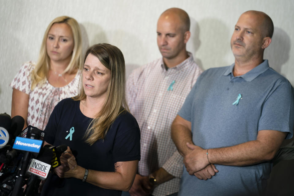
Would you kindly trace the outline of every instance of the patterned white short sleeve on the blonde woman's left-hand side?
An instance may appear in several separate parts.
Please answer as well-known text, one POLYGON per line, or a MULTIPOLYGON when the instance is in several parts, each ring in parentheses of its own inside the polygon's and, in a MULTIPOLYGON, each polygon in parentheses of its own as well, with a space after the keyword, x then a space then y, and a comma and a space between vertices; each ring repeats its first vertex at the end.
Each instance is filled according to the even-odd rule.
POLYGON ((31 73, 34 68, 34 62, 26 62, 23 64, 9 86, 29 94, 31 92, 31 73))

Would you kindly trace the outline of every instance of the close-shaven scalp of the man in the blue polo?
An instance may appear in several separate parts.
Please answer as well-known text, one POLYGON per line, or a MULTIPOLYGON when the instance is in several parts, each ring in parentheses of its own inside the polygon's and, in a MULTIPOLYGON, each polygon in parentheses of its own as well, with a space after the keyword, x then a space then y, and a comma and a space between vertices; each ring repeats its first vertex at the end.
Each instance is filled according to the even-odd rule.
POLYGON ((243 14, 250 14, 250 15, 256 17, 256 19, 259 20, 260 29, 262 31, 263 37, 272 38, 272 36, 273 36, 273 21, 266 13, 260 12, 260 11, 255 11, 255 10, 249 10, 247 12, 244 12, 243 14))

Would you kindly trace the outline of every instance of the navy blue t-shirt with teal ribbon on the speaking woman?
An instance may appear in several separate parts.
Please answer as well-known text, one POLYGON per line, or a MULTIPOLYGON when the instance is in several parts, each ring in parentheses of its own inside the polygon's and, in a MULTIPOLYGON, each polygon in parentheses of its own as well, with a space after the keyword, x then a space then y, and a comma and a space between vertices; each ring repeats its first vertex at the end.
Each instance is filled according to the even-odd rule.
MULTIPOLYGON (((106 137, 92 146, 85 142, 85 131, 91 118, 80 110, 80 101, 71 98, 60 101, 54 108, 45 128, 45 141, 51 145, 66 144, 77 164, 83 168, 114 172, 118 161, 140 160, 140 129, 134 116, 124 111, 110 126, 106 137), (71 137, 67 137, 72 133, 71 137)), ((41 195, 121 195, 121 191, 108 190, 81 182, 76 178, 48 176, 41 195)))

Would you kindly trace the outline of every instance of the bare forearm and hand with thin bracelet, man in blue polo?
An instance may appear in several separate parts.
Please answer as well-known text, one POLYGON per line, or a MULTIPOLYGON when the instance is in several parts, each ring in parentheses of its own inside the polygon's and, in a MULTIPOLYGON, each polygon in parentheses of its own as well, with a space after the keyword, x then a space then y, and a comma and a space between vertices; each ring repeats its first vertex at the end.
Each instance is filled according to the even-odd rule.
POLYGON ((246 166, 258 164, 273 159, 287 133, 276 130, 260 130, 256 140, 242 144, 224 147, 202 149, 199 146, 187 143, 193 149, 184 157, 184 164, 189 174, 205 168, 208 164, 231 166, 246 166))

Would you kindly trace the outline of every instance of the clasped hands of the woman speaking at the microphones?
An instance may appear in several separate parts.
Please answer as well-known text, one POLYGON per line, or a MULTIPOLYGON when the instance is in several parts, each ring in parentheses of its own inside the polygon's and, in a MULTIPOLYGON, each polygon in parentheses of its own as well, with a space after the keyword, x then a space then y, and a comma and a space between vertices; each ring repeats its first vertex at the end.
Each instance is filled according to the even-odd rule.
POLYGON ((75 170, 77 168, 77 161, 70 147, 67 147, 66 151, 60 156, 61 165, 54 169, 56 175, 59 178, 74 177, 75 170))

